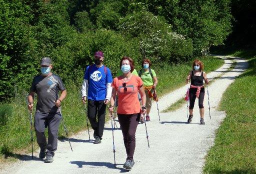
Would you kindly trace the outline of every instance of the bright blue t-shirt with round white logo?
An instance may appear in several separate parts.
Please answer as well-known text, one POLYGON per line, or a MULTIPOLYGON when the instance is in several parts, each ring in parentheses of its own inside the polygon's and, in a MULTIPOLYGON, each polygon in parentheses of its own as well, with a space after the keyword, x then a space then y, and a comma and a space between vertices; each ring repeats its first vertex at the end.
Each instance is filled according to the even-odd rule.
POLYGON ((97 67, 92 64, 86 67, 83 78, 88 80, 87 98, 96 101, 104 100, 106 97, 106 83, 113 81, 110 69, 104 65, 97 67))

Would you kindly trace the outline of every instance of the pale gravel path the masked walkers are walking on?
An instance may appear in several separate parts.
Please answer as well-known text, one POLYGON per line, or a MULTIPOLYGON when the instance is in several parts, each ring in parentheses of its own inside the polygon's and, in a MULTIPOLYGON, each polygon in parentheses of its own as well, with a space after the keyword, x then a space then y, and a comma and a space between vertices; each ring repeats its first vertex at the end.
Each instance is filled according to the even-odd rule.
MULTIPOLYGON (((151 121, 147 122, 150 148, 147 147, 145 126, 139 124, 136 131, 135 164, 129 173, 200 173, 204 156, 214 141, 214 132, 225 113, 216 109, 221 96, 234 78, 242 73, 248 63, 241 58, 233 58, 236 66, 226 72, 232 60, 223 57, 225 63, 219 69, 209 73, 208 78, 221 75, 209 86, 211 119, 209 119, 208 99, 205 93, 205 125, 199 124, 198 101, 195 102, 194 116, 190 124, 186 123, 186 104, 180 109, 162 113, 158 122, 156 103, 151 109, 151 121)), ((184 97, 187 85, 176 89, 160 98, 159 110, 167 108, 184 97)), ((119 123, 117 122, 119 127, 119 123)), ((92 137, 92 131, 90 132, 92 137)), ((44 163, 39 158, 30 157, 5 168, 1 173, 119 173, 126 154, 120 129, 114 130, 116 169, 113 168, 113 149, 111 123, 105 124, 103 139, 100 144, 88 140, 88 133, 82 131, 70 138, 73 151, 68 141, 58 142, 58 149, 52 163, 44 163)), ((38 156, 38 152, 35 154, 38 156)))

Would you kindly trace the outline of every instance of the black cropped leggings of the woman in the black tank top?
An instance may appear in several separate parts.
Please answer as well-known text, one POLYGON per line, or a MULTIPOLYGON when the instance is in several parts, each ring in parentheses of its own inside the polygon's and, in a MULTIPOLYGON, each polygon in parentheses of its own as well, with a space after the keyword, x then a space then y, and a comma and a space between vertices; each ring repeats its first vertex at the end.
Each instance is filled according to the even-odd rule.
MULTIPOLYGON (((196 90, 197 88, 189 88, 189 109, 193 109, 194 108, 194 101, 196 98, 196 90)), ((204 98, 204 87, 201 88, 200 90, 200 94, 198 97, 198 105, 199 108, 203 108, 203 98, 204 98)))

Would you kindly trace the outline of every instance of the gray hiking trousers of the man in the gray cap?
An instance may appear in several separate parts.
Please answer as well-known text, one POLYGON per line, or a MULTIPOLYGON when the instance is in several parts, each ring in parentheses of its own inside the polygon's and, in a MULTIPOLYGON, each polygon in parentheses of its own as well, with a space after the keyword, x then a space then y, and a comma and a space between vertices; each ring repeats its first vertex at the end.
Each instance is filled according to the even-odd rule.
POLYGON ((46 156, 54 156, 57 149, 58 127, 61 120, 59 112, 34 114, 34 129, 36 134, 36 142, 41 149, 46 149, 46 156), (48 142, 44 135, 45 128, 48 127, 48 142))

